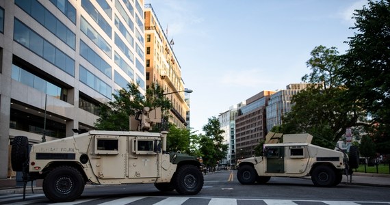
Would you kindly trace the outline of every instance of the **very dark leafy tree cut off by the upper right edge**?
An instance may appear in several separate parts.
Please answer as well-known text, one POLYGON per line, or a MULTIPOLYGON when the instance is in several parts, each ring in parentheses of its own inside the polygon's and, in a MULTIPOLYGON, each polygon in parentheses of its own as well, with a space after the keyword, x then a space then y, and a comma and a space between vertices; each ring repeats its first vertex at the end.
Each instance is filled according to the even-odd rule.
POLYGON ((390 1, 369 1, 352 18, 356 31, 348 41, 350 49, 343 55, 341 69, 348 98, 367 109, 379 126, 389 128, 390 1))

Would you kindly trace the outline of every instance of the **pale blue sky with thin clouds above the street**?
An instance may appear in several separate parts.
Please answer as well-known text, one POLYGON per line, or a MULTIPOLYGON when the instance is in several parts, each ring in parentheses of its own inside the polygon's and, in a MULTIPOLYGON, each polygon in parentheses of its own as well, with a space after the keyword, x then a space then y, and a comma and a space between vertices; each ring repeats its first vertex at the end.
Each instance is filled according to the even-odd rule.
POLYGON ((190 126, 263 90, 283 90, 311 72, 316 46, 348 50, 354 10, 367 0, 145 0, 181 66, 190 94, 190 126))

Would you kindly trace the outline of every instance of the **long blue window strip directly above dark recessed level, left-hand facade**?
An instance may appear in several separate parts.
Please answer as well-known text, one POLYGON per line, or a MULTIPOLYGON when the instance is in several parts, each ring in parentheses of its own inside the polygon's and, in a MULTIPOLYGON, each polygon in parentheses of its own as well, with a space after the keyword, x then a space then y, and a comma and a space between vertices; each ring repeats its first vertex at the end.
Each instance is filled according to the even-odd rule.
POLYGON ((17 18, 14 19, 14 41, 75 77, 75 60, 44 40, 17 18))

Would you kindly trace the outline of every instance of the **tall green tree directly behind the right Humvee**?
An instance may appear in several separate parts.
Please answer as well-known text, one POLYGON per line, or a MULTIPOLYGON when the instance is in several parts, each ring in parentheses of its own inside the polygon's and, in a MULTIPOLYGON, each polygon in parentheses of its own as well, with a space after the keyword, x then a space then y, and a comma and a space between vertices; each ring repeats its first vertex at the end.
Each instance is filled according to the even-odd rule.
POLYGON ((341 61, 335 47, 315 47, 307 66, 312 72, 302 81, 312 85, 293 97, 294 107, 284 119, 283 133, 310 133, 313 143, 334 148, 346 128, 366 125, 362 123, 365 112, 344 97, 347 90, 339 76, 341 61))

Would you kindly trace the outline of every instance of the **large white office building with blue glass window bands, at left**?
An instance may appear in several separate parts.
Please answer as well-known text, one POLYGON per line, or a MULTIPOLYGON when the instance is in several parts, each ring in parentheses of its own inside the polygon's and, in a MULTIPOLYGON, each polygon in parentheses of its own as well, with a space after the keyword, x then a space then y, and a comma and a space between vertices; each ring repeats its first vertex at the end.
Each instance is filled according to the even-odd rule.
POLYGON ((14 136, 68 137, 128 82, 144 93, 144 48, 143 0, 0 1, 0 178, 14 136))

